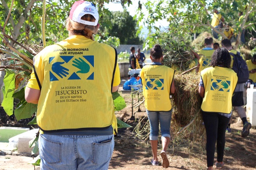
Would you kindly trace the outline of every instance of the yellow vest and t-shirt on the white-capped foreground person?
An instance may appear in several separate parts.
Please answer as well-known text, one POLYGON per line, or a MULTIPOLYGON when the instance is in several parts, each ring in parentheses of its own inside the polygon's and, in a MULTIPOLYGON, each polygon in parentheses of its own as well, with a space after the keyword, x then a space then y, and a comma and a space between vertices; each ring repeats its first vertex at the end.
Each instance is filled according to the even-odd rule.
MULTIPOLYGON (((120 83, 114 48, 81 35, 50 45, 34 57, 42 86, 37 123, 43 131, 116 128, 111 85, 120 83), (114 75, 114 77, 113 77, 114 75)), ((35 73, 27 87, 39 90, 35 73)))

